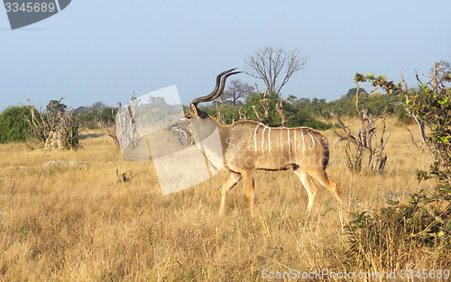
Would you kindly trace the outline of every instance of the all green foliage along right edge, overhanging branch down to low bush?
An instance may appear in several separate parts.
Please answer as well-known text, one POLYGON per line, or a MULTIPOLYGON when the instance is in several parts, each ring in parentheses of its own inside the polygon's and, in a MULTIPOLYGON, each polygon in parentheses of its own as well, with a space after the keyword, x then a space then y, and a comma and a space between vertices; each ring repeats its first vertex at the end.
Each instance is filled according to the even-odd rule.
MULTIPOLYGON (((436 63, 435 68, 437 68, 436 63)), ((412 252, 434 254, 438 266, 451 266, 451 156, 449 128, 451 125, 451 91, 445 86, 451 81, 451 71, 421 84, 416 92, 410 92, 401 82, 395 85, 385 76, 374 77, 357 74, 357 81, 371 81, 387 92, 405 95, 405 105, 423 123, 431 124, 428 149, 435 161, 428 171, 418 170, 419 181, 436 180, 432 192, 420 190, 408 203, 388 201, 375 214, 356 212, 347 225, 351 257, 347 264, 373 267, 375 258, 382 268, 394 265, 403 268, 412 252)), ((437 267, 437 265, 436 265, 437 267)))

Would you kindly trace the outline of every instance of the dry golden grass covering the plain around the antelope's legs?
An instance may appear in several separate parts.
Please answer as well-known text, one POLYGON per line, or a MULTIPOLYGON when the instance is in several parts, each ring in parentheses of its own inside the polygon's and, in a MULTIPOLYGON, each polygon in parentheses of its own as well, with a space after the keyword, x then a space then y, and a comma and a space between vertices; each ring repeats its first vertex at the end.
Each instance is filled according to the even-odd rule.
POLYGON ((0 145, 0 280, 250 281, 260 280, 262 269, 343 269, 349 210, 377 209, 385 198, 402 201, 429 188, 415 179, 415 169, 428 164, 414 160, 407 131, 394 119, 387 127, 389 164, 382 176, 351 174, 344 147, 325 132, 335 144, 327 172, 339 185, 342 209, 318 185, 307 214, 307 192, 292 171, 258 171, 254 219, 241 182, 218 217, 226 171, 162 196, 152 163, 124 160, 100 132, 84 132, 78 151, 0 145), (118 182, 116 168, 131 170, 133 181, 118 182))

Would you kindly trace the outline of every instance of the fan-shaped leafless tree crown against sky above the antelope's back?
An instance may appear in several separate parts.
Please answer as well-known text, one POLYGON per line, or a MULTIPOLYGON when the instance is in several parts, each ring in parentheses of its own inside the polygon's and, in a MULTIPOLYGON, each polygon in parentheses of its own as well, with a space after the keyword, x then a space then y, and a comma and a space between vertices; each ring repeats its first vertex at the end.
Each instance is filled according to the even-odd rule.
POLYGON ((244 59, 244 72, 251 77, 262 79, 270 91, 279 95, 281 88, 287 84, 290 77, 298 70, 306 68, 307 62, 308 57, 301 57, 300 50, 265 46, 244 59), (280 84, 278 84, 279 78, 281 78, 280 84))

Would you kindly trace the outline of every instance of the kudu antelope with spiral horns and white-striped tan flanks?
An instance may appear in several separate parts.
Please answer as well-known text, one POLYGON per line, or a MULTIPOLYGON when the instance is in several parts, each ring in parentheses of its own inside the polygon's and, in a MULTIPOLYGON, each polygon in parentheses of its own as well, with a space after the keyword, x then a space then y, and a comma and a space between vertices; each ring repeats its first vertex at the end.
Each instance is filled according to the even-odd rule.
MULTIPOLYGON (((180 120, 173 125, 174 130, 186 132, 194 141, 197 141, 197 138, 192 136, 194 134, 189 128, 186 128, 187 121, 188 124, 192 124, 196 119, 209 119, 213 123, 207 124, 213 124, 216 127, 222 145, 224 166, 230 170, 230 176, 221 189, 219 214, 224 214, 227 191, 243 178, 251 216, 253 216, 253 171, 255 169, 293 168, 307 190, 308 210, 311 209, 318 193, 312 177, 326 186, 340 204, 343 203, 338 186, 330 177, 327 177, 325 169, 329 159, 328 141, 320 132, 308 127, 271 128, 253 121, 239 121, 223 126, 198 109, 199 103, 213 101, 223 93, 226 78, 241 73, 241 71, 233 72, 235 69, 220 73, 216 77, 216 87, 213 92, 210 95, 195 98, 190 105, 186 120, 180 120), (185 127, 182 124, 185 124, 185 127)), ((201 134, 203 130, 200 129, 201 134)), ((211 128, 205 128, 205 131, 213 132, 211 128)), ((209 155, 211 156, 211 153, 209 155)))

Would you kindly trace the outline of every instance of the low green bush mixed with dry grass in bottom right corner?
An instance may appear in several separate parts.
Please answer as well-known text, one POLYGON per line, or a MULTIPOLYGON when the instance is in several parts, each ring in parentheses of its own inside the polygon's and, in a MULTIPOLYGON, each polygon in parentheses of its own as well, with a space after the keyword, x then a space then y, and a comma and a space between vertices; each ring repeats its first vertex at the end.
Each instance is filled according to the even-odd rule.
POLYGON ((400 268, 412 255, 434 253, 440 268, 451 266, 451 194, 440 189, 432 195, 424 190, 411 196, 408 204, 388 200, 391 206, 378 213, 350 213, 346 226, 349 248, 347 264, 358 268, 400 268))

